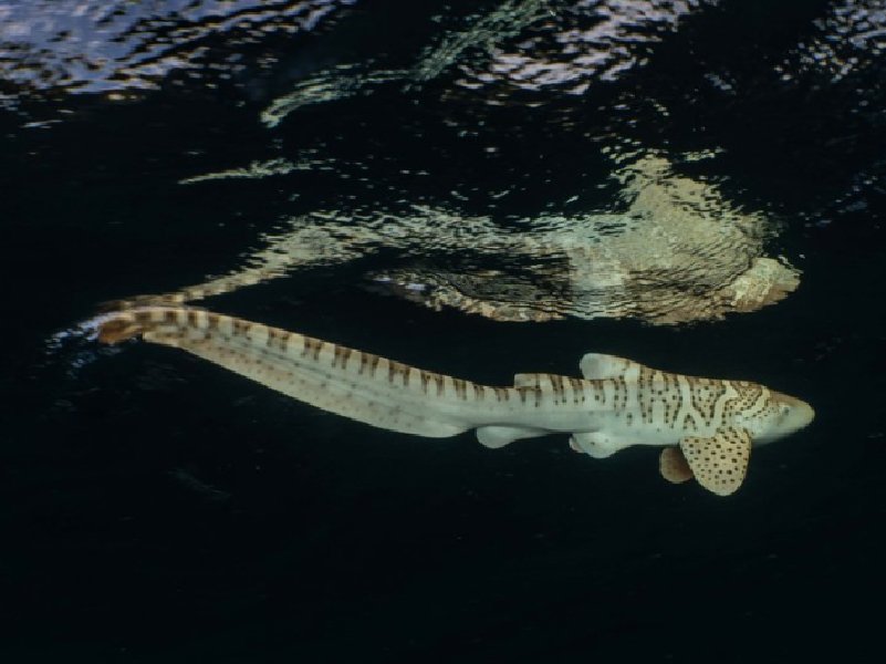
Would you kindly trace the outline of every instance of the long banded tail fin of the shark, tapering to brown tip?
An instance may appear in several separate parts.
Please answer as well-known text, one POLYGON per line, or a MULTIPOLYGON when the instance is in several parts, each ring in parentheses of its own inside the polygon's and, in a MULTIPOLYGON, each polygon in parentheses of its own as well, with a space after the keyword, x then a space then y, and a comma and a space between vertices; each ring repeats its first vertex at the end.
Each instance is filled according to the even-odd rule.
POLYGON ((180 307, 105 313, 96 324, 104 343, 140 335, 387 430, 438 438, 476 426, 473 384, 294 332, 180 307))

